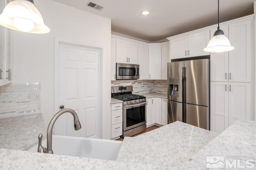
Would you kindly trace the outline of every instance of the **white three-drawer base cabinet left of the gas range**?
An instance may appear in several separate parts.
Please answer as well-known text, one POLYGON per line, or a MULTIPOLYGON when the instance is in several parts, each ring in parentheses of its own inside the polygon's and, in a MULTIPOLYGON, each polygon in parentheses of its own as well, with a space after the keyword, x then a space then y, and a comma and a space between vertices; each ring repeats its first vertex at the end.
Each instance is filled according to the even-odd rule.
POLYGON ((123 103, 111 105, 111 139, 123 135, 123 103))

